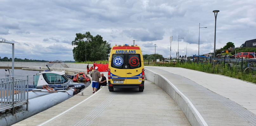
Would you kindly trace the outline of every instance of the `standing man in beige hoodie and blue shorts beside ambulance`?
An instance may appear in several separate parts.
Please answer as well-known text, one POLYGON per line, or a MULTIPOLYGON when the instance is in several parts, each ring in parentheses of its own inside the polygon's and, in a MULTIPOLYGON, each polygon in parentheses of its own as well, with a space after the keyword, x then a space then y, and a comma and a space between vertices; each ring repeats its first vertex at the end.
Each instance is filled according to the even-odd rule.
POLYGON ((98 66, 95 67, 95 70, 91 72, 90 76, 92 77, 92 93, 95 93, 99 87, 99 78, 101 78, 101 73, 98 71, 98 66))

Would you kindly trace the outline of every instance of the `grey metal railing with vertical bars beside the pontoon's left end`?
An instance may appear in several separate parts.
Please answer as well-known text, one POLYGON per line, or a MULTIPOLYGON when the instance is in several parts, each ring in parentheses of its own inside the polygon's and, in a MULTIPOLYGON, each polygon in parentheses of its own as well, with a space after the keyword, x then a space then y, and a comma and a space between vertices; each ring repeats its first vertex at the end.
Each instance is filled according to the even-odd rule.
POLYGON ((12 109, 14 114, 14 107, 28 103, 28 75, 1 76, 5 77, 0 78, 0 112, 12 109))

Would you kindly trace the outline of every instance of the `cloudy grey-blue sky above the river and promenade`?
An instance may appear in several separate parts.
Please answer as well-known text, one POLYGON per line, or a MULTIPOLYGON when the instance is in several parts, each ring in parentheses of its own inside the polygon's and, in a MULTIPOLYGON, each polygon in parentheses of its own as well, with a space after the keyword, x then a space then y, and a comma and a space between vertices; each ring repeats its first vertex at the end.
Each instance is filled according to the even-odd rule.
MULTIPOLYGON (((191 56, 198 49, 207 54, 214 49, 213 10, 220 10, 216 49, 256 38, 255 0, 0 0, 0 5, 0 40, 15 43, 14 57, 20 59, 74 61, 71 42, 87 31, 111 47, 135 40, 142 54, 173 58, 178 50, 191 56)), ((11 56, 12 45, 0 43, 0 57, 11 56)))

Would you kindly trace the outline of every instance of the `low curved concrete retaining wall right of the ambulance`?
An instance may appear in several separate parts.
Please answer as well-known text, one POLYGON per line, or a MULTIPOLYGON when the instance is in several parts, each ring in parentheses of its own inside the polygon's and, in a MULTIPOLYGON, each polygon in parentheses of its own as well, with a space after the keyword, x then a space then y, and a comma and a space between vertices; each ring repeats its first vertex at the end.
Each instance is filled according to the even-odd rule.
POLYGON ((163 89, 181 108, 182 112, 186 115, 188 121, 192 126, 208 126, 201 114, 194 107, 192 102, 169 80, 160 74, 145 68, 145 76, 147 80, 155 83, 161 89, 163 89))

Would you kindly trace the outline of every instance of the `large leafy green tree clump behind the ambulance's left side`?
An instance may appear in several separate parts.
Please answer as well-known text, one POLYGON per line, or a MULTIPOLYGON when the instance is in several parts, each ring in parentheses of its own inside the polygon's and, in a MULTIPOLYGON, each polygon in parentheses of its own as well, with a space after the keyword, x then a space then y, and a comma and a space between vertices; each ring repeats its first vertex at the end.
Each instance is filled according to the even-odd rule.
POLYGON ((81 62, 86 60, 107 60, 111 47, 107 41, 103 41, 100 35, 93 37, 88 31, 85 34, 76 33, 75 40, 72 41, 74 60, 81 62))

